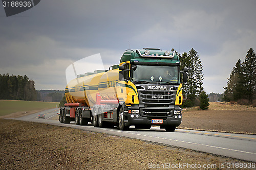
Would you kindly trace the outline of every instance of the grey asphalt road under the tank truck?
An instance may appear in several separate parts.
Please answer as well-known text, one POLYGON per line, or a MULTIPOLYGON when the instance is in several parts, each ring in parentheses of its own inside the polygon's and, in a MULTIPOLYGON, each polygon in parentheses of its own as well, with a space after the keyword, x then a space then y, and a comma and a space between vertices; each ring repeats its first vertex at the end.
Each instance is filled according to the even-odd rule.
POLYGON ((158 127, 152 127, 150 130, 141 130, 135 129, 133 126, 130 127, 129 131, 120 131, 116 128, 95 128, 90 123, 88 126, 78 126, 74 122, 60 124, 56 120, 57 112, 58 108, 39 112, 45 114, 45 119, 37 118, 39 113, 16 119, 108 133, 256 162, 256 135, 183 129, 176 129, 175 132, 166 132, 158 127))

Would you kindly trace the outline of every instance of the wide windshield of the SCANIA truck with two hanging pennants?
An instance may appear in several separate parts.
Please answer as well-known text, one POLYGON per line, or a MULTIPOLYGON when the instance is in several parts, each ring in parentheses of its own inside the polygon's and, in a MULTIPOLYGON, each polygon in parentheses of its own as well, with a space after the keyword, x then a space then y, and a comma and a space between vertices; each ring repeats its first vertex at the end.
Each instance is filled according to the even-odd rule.
POLYGON ((180 83, 178 66, 137 65, 133 71, 133 82, 145 81, 180 83))

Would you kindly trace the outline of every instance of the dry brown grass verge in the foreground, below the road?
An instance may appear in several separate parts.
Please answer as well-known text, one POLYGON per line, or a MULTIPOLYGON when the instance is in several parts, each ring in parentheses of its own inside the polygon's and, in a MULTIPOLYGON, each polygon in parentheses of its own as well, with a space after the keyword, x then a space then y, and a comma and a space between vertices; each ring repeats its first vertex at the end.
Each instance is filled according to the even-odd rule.
POLYGON ((0 119, 0 130, 0 169, 150 169, 149 163, 215 164, 218 169, 220 163, 245 163, 137 139, 17 120, 0 119))

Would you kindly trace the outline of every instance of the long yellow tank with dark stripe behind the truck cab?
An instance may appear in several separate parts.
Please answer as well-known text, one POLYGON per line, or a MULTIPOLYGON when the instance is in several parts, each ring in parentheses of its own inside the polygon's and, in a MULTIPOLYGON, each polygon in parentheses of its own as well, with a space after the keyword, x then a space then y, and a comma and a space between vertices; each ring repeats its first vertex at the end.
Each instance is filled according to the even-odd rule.
POLYGON ((93 106, 96 104, 97 93, 102 100, 117 100, 117 82, 118 69, 73 79, 65 90, 67 103, 93 106))

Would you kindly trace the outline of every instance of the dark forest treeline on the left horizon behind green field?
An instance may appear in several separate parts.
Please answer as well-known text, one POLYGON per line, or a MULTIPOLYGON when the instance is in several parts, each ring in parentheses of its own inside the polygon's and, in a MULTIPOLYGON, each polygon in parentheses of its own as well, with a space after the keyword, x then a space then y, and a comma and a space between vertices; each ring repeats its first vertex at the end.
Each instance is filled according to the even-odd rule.
POLYGON ((25 76, 0 74, 0 100, 59 102, 64 90, 35 90, 35 82, 25 76))

